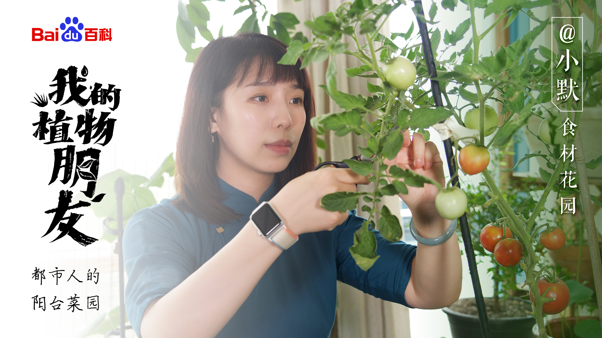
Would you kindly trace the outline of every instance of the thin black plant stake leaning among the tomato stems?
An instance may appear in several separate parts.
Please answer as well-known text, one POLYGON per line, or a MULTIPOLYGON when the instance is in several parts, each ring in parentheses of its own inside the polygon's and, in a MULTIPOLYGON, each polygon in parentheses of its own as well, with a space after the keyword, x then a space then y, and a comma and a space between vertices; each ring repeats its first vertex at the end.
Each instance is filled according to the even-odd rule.
MULTIPOLYGON (((416 7, 415 13, 424 16, 422 1, 414 1, 414 5, 416 7)), ((439 81, 433 80, 433 78, 437 77, 437 72, 435 69, 435 58, 433 57, 433 51, 430 48, 429 30, 426 28, 426 23, 420 20, 420 17, 416 16, 416 19, 418 21, 418 29, 420 29, 420 36, 422 37, 424 61, 426 61, 427 70, 429 70, 430 88, 432 89, 433 100, 435 100, 435 106, 443 106, 439 81)), ((452 185, 457 186, 458 176, 454 176, 456 173, 456 163, 454 161, 452 152, 452 141, 448 138, 447 140, 443 141, 443 145, 445 147, 445 157, 447 157, 447 166, 450 170, 450 177, 453 177, 452 185)), ((484 338, 491 338, 487 311, 485 310, 485 301, 483 300, 483 292, 481 290, 481 283, 479 281, 479 272, 477 271, 477 262, 474 259, 473 241, 470 238, 470 230, 468 229, 466 214, 460 217, 460 230, 462 231, 462 241, 464 241, 464 251, 466 251, 466 257, 468 259, 470 277, 473 280, 474 300, 477 303, 477 310, 479 311, 481 332, 483 333, 484 338)))

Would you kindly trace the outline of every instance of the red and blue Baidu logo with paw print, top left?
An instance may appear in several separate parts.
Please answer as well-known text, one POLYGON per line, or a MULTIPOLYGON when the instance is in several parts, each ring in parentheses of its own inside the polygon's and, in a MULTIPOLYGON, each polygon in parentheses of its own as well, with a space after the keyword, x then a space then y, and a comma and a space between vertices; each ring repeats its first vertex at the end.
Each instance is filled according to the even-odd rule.
MULTIPOLYGON (((85 28, 84 24, 79 22, 78 17, 67 16, 64 22, 60 24, 60 40, 69 41, 112 41, 111 28, 85 28)), ((31 41, 60 41, 58 38, 58 27, 54 31, 45 31, 42 28, 31 28, 31 41)))

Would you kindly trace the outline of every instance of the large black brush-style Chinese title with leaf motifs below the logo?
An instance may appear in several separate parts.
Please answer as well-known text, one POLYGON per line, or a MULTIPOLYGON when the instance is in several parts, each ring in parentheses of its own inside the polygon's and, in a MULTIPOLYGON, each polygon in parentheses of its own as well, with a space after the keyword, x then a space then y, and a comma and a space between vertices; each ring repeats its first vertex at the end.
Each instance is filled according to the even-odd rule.
MULTIPOLYGON (((72 188, 78 182, 79 178, 88 181, 87 189, 82 192, 93 203, 96 203, 101 201, 105 195, 94 195, 101 150, 88 147, 88 149, 76 152, 75 145, 69 143, 75 142, 73 138, 79 138, 81 144, 90 144, 94 141, 94 144, 101 146, 106 146, 111 141, 116 119, 109 118, 109 115, 119 107, 121 90, 112 84, 108 84, 106 88, 103 88, 104 85, 98 82, 93 85, 82 85, 83 82, 87 82, 87 76, 88 69, 85 66, 82 67, 81 72, 78 72, 78 68, 75 66, 70 66, 67 69, 58 69, 57 75, 52 79, 53 83, 49 85, 50 87, 55 87, 55 90, 49 93, 48 97, 45 94, 41 96, 36 94, 36 102, 32 103, 40 107, 47 106, 49 101, 60 106, 75 102, 81 107, 86 107, 90 104, 92 106, 108 106, 112 103, 113 106, 108 106, 110 112, 101 111, 100 115, 98 115, 98 112, 95 114, 95 108, 85 109, 84 114, 77 115, 77 124, 72 134, 69 134, 69 127, 75 120, 73 120, 73 117, 69 117, 64 109, 56 109, 54 111, 54 120, 49 118, 51 116, 49 112, 40 111, 39 120, 36 123, 32 123, 32 125, 37 128, 33 136, 38 140, 46 141, 43 144, 66 143, 64 147, 54 149, 54 167, 48 185, 51 185, 58 179, 62 169, 63 176, 59 181, 63 185, 67 185, 71 181, 72 184, 69 188, 72 188), (66 93, 67 87, 69 88, 68 97, 66 93), (63 100, 65 97, 67 99, 63 100), (72 122, 68 123, 67 121, 72 122)), ((60 234, 51 242, 65 235, 69 235, 76 242, 84 246, 98 241, 98 239, 87 236, 74 228, 83 214, 70 212, 68 216, 66 215, 69 210, 91 205, 81 200, 75 204, 71 204, 72 197, 73 191, 69 189, 61 190, 58 195, 57 207, 45 211, 46 214, 54 214, 54 218, 42 237, 51 233, 58 226, 60 234)))

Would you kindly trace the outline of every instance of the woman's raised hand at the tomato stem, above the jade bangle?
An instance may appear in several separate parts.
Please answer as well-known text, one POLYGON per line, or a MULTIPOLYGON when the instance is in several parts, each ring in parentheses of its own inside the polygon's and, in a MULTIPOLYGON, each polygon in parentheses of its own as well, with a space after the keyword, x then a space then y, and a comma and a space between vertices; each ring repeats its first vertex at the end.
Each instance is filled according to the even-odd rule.
MULTIPOLYGON (((425 142, 424 136, 420 133, 414 133, 410 138, 409 130, 406 130, 403 133, 402 149, 399 150, 396 158, 385 159, 384 163, 415 171, 417 174, 436 180, 441 186, 445 185, 443 161, 439 156, 439 150, 435 143, 425 142)), ((393 178, 389 177, 389 181, 391 180, 393 178)), ((429 221, 432 215, 439 215, 435 209, 435 195, 438 192, 439 189, 436 186, 425 183, 422 188, 408 186, 408 194, 399 194, 399 197, 408 205, 413 217, 429 221)))

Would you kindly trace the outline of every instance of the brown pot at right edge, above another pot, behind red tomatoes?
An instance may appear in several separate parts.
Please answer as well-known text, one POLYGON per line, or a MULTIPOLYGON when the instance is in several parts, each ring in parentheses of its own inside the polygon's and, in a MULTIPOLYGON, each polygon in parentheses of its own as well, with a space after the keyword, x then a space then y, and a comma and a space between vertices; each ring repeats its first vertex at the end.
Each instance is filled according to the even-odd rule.
MULTIPOLYGON (((550 257, 554 263, 566 268, 568 272, 577 273, 577 263, 579 262, 579 245, 568 245, 558 250, 550 250, 550 257)), ((592 257, 589 255, 589 247, 581 247, 581 264, 579 266, 579 281, 588 281, 584 284, 590 289, 594 289, 594 271, 592 269, 592 257)))

